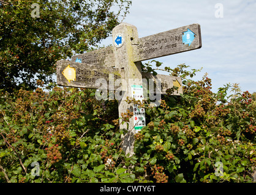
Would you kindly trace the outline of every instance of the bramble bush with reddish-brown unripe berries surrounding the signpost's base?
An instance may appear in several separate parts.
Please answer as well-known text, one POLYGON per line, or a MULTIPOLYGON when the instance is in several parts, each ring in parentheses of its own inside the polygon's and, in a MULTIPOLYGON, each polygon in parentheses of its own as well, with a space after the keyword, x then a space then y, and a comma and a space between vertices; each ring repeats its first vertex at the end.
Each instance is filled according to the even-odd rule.
POLYGON ((95 90, 53 84, 46 94, 38 80, 35 91, 1 91, 0 182, 253 182, 255 95, 237 84, 213 93, 211 79, 191 80, 199 70, 188 67, 163 69, 183 78, 181 96, 174 87, 159 107, 139 105, 147 125, 132 156, 121 148, 118 103, 98 101, 95 90))

